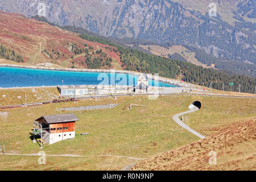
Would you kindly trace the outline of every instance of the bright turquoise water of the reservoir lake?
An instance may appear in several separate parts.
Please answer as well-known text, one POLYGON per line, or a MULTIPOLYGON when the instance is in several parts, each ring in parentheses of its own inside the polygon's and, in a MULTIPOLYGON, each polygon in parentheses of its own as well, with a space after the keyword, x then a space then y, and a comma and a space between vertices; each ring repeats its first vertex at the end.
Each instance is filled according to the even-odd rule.
MULTIPOLYGON (((0 67, 0 87, 55 85, 137 85, 137 76, 123 73, 68 72, 42 69, 0 67), (63 80, 63 82, 62 82, 63 80)), ((149 80, 151 86, 176 87, 149 80)))

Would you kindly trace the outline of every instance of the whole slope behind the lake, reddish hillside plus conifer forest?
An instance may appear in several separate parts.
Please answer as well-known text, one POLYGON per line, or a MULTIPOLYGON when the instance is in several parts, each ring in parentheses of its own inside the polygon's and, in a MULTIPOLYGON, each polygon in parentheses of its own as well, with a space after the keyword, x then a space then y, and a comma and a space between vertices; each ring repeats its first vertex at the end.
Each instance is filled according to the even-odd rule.
MULTIPOLYGON (((208 87, 212 82, 213 89, 222 89, 224 82, 225 85, 234 82, 233 88, 241 84, 241 92, 249 93, 254 92, 256 85, 256 78, 253 77, 149 55, 110 42, 102 36, 88 35, 88 31, 77 27, 57 27, 9 13, 0 13, 0 26, 0 57, 13 61, 52 63, 68 68, 115 68, 158 73, 159 76, 182 78, 192 84, 208 87)), ((225 90, 229 90, 228 86, 225 86, 225 90)))

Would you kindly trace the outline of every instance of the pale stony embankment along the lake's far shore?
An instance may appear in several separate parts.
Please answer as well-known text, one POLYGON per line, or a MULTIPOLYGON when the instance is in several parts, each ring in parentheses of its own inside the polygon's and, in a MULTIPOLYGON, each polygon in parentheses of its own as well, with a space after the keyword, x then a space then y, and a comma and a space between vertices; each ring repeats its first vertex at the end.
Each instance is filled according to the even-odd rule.
MULTIPOLYGON (((15 64, 0 64, 0 67, 10 67, 10 68, 24 68, 24 69, 38 69, 38 70, 49 70, 49 71, 66 71, 66 72, 91 72, 91 73, 122 73, 133 76, 140 76, 142 73, 126 70, 115 70, 115 69, 78 69, 78 68, 52 68, 52 67, 40 67, 40 66, 29 66, 29 65, 15 65, 15 64)), ((151 74, 146 74, 148 78, 152 80, 154 77, 155 81, 164 82, 166 84, 171 84, 175 86, 187 87, 188 84, 184 82, 170 80, 171 78, 164 78, 160 76, 153 76, 151 74)))

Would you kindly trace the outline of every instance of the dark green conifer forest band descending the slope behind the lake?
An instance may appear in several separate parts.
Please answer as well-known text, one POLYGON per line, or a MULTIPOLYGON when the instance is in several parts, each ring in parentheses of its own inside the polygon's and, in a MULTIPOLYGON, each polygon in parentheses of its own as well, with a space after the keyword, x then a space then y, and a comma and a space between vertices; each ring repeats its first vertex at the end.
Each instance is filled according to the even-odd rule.
MULTIPOLYGON (((47 21, 45 18, 37 19, 47 21)), ((117 49, 114 49, 113 51, 120 53, 123 69, 153 74, 159 73, 159 76, 168 78, 177 78, 177 76, 182 75, 184 81, 191 82, 192 84, 209 87, 212 82, 212 88, 218 90, 223 89, 222 86, 224 83, 225 85, 228 85, 229 82, 234 82, 233 88, 235 89, 233 89, 233 91, 238 91, 238 86, 241 84, 241 92, 254 93, 256 86, 255 77, 203 68, 180 60, 172 60, 165 57, 150 55, 137 49, 123 46, 124 43, 122 43, 120 39, 112 42, 113 38, 109 40, 109 38, 104 38, 104 36, 99 36, 84 28, 74 26, 60 26, 60 28, 76 32, 80 34, 82 39, 90 42, 117 47, 117 49), (122 46, 119 42, 121 42, 120 44, 122 44, 122 46)), ((230 91, 229 86, 225 86, 224 89, 230 91)))

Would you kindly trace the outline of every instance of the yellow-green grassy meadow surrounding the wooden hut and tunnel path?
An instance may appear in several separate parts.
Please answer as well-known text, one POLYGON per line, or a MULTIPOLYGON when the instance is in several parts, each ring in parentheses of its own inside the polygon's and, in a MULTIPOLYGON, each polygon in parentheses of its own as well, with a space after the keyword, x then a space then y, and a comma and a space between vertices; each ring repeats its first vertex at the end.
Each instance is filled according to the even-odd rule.
POLYGON ((29 132, 34 119, 42 115, 75 113, 76 138, 52 145, 45 144, 46 154, 74 154, 88 157, 47 157, 47 164, 40 166, 34 156, 0 155, 0 169, 121 169, 135 163, 133 159, 101 155, 130 156, 147 158, 172 150, 199 138, 182 129, 172 115, 188 110, 188 105, 200 100, 203 107, 189 117, 189 125, 205 134, 215 133, 234 121, 255 117, 256 100, 245 98, 220 98, 200 96, 159 96, 158 100, 148 100, 146 96, 127 96, 49 104, 34 107, 19 107, 0 111, 1 144, 6 151, 16 154, 35 154, 40 151, 37 143, 32 143, 29 132), (90 111, 60 111, 69 106, 119 104, 113 109, 90 111), (216 104, 220 104, 216 106, 216 104), (250 103, 250 106, 248 106, 250 103), (141 104, 147 107, 132 107, 141 104), (221 111, 220 111, 221 110, 221 111), (240 110, 240 111, 237 111, 240 110), (206 125, 205 123, 209 123, 206 125), (224 125, 224 126, 222 126, 224 125), (220 127, 222 126, 222 127, 220 127), (80 135, 88 132, 89 135, 80 135))

